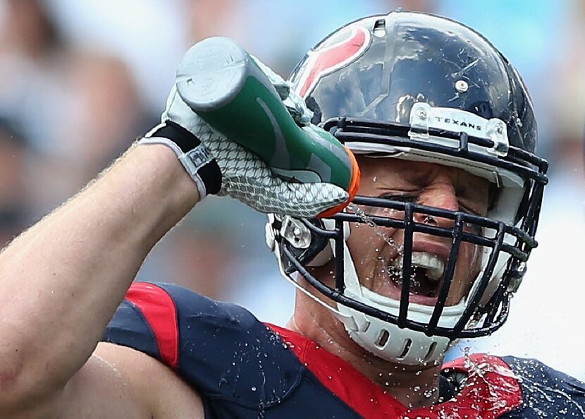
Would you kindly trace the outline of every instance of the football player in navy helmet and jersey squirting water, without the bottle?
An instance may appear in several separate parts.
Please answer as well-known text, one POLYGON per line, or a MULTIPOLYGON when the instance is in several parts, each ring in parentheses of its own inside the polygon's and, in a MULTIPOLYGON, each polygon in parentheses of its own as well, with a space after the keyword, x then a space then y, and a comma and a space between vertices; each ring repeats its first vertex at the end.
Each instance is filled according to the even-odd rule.
POLYGON ((443 363, 503 324, 536 246, 547 164, 515 68, 460 23, 394 12, 333 32, 290 84, 355 153, 351 205, 317 217, 347 191, 274 176, 173 89, 160 126, 1 254, 0 416, 585 417, 584 384, 536 360, 443 363), (287 327, 132 284, 209 194, 271 213, 287 327))

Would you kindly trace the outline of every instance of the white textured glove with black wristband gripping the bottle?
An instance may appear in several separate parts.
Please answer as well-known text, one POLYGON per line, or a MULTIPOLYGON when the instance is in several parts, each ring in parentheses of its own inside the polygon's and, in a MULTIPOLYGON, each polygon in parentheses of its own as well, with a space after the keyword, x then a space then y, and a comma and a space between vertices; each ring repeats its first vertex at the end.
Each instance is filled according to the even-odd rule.
MULTIPOLYGON (((271 72, 272 83, 276 80, 275 77, 278 76, 271 72)), ((281 80, 281 86, 277 88, 279 94, 283 95, 285 87, 282 86, 286 83, 281 78, 278 79, 281 80)), ((286 101, 285 104, 287 104, 286 101)), ((288 109, 291 110, 299 109, 299 107, 301 107, 300 110, 291 114, 295 116, 295 119, 307 120, 309 111, 302 109, 304 107, 300 105, 299 100, 293 100, 288 104, 288 109)), ((331 183, 290 183, 278 178, 256 154, 218 133, 200 119, 183 102, 176 86, 173 86, 168 96, 161 121, 163 124, 169 121, 171 124, 178 124, 195 135, 192 139, 192 147, 185 147, 184 144, 179 146, 173 138, 161 137, 159 134, 161 126, 154 128, 146 138, 140 140, 140 143, 158 142, 171 147, 197 183, 202 198, 207 193, 228 195, 259 212, 273 212, 301 218, 316 217, 349 199, 345 190, 331 183), (202 142, 201 145, 197 139, 202 142), (209 166, 214 164, 213 160, 221 171, 221 188, 218 191, 215 187, 209 187, 210 184, 214 185, 218 182, 216 178, 209 176, 209 173, 216 173, 214 170, 209 170, 209 166), (205 168, 204 174, 202 174, 202 167, 205 168)))

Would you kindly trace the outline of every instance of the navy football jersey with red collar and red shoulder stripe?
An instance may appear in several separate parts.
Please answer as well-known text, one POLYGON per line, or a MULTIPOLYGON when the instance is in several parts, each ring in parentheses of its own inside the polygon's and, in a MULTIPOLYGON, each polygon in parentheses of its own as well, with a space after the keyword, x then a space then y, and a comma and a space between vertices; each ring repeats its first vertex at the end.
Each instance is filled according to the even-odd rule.
POLYGON ((445 377, 464 377, 451 399, 408 409, 304 336, 172 284, 133 284, 103 340, 176 371, 207 419, 585 418, 581 382, 536 360, 486 355, 445 365, 445 377))

